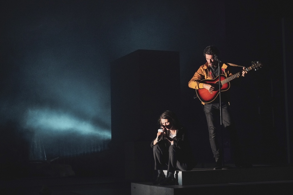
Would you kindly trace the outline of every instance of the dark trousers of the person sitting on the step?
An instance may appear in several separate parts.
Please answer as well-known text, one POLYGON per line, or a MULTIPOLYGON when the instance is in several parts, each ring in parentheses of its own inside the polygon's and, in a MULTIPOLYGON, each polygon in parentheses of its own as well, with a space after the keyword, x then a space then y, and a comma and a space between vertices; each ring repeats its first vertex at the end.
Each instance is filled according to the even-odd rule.
POLYGON ((174 173, 176 169, 191 170, 195 166, 192 155, 185 155, 174 145, 166 147, 164 143, 158 143, 154 145, 153 152, 155 170, 165 170, 168 167, 168 172, 174 173))

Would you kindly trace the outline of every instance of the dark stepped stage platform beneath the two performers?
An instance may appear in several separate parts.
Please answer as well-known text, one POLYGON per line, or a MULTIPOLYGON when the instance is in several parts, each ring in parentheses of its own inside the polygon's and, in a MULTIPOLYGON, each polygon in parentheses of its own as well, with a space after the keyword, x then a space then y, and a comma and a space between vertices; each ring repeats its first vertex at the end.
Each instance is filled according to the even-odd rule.
MULTIPOLYGON (((166 171, 164 171, 166 172, 166 171)), ((131 183, 132 195, 155 194, 292 194, 292 165, 254 165, 252 168, 176 171, 174 186, 131 183)))

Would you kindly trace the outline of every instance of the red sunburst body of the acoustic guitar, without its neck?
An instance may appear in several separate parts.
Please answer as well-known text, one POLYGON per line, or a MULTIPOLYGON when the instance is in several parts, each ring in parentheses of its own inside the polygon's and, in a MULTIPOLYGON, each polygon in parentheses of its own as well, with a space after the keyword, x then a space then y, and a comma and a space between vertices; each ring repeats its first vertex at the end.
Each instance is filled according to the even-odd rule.
MULTIPOLYGON (((220 80, 223 81, 225 80, 227 77, 226 75, 220 75, 220 80)), ((215 79, 205 79, 205 80, 201 80, 202 83, 214 83, 214 84, 218 84, 219 85, 219 76, 217 76, 215 79)), ((226 82, 225 84, 222 85, 221 87, 221 92, 222 91, 226 91, 230 88, 230 83, 226 82)), ((220 90, 217 89, 215 91, 209 92, 209 90, 203 88, 203 89, 196 89, 196 94, 197 97, 200 99, 200 101, 202 101, 203 103, 211 103, 212 101, 214 101, 217 96, 219 95, 220 90)))

